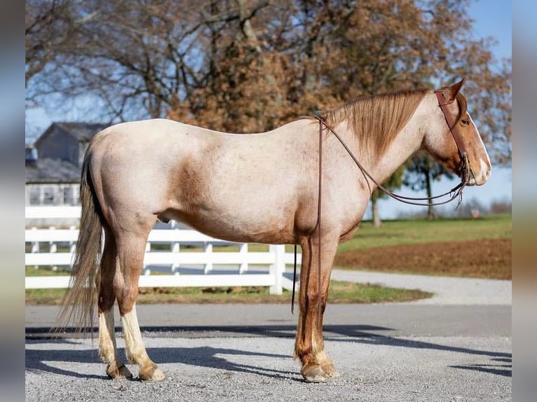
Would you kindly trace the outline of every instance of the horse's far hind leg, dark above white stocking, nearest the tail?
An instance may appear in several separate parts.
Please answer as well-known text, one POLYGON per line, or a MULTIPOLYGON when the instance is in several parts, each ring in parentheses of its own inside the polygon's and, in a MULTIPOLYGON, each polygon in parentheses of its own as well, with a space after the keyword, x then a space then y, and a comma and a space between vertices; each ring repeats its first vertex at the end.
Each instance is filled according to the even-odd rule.
POLYGON ((109 230, 104 236, 104 250, 101 259, 101 280, 99 291, 99 355, 107 363, 107 375, 118 378, 132 378, 132 374, 118 356, 116 333, 114 331, 114 275, 116 274, 117 251, 113 235, 109 230))

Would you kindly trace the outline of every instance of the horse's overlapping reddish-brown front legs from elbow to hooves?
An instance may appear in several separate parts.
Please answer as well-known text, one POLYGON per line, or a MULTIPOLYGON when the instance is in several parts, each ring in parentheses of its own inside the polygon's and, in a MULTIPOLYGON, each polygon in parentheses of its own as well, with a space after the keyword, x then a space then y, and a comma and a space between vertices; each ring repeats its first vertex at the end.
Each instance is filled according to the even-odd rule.
POLYGON ((308 382, 322 382, 339 373, 325 352, 322 338, 322 315, 325 312, 330 272, 337 249, 337 239, 322 240, 322 255, 318 253, 318 240, 310 237, 301 242, 300 316, 294 356, 302 363, 301 374, 308 382), (318 258, 321 272, 318 273, 318 258), (320 281, 320 293, 319 293, 320 281), (319 303, 320 298, 320 303, 319 303))

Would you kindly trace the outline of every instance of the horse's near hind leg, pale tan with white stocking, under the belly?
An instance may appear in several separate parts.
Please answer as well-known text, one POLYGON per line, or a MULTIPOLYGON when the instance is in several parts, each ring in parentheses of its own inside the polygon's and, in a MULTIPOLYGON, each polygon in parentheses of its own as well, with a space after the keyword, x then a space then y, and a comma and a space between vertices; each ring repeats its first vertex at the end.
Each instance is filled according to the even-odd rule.
POLYGON ((147 235, 154 221, 156 221, 156 218, 151 224, 144 225, 144 228, 141 225, 138 226, 137 232, 128 230, 121 233, 121 236, 116 237, 121 275, 116 275, 114 290, 121 314, 121 324, 123 325, 125 352, 127 359, 131 363, 136 363, 140 366, 139 376, 140 380, 143 381, 165 379, 164 373, 157 368, 156 364, 147 355, 136 315, 138 279, 142 272, 147 235))

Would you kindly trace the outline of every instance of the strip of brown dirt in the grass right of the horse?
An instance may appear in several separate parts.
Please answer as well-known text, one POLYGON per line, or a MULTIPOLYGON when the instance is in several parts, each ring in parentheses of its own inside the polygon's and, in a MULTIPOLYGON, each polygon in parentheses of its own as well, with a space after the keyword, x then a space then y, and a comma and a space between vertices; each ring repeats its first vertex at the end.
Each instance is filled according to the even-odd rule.
POLYGON ((511 279, 511 239, 398 245, 345 251, 335 267, 511 279))

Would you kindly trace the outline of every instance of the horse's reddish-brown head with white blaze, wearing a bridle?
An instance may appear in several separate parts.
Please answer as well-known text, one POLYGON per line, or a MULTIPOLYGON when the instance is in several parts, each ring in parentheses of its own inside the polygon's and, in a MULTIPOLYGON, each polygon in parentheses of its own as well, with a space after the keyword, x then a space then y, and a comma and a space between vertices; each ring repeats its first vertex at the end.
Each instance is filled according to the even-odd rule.
POLYGON ((468 186, 481 186, 489 179, 491 162, 480 133, 466 110, 461 94, 464 78, 430 96, 433 116, 423 139, 423 148, 438 158, 447 169, 463 176, 465 156, 468 161, 468 186))

